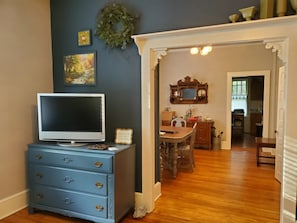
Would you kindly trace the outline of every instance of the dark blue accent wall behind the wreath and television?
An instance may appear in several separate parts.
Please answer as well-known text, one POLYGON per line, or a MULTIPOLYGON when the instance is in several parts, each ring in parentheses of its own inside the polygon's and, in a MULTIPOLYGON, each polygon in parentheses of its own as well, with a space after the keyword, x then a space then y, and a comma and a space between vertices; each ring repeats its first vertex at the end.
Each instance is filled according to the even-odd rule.
MULTIPOLYGON (((94 36, 96 17, 110 1, 51 0, 53 80, 55 92, 106 94, 107 141, 115 128, 133 128, 137 147, 136 191, 141 192, 141 64, 135 44, 125 50, 110 49, 94 36), (77 46, 77 32, 91 29, 92 45, 77 46), (97 84, 65 86, 63 56, 97 52, 97 84)), ((118 0, 138 14, 135 34, 228 23, 238 9, 257 6, 259 0, 118 0)), ((145 128, 145 126, 143 126, 145 128)))

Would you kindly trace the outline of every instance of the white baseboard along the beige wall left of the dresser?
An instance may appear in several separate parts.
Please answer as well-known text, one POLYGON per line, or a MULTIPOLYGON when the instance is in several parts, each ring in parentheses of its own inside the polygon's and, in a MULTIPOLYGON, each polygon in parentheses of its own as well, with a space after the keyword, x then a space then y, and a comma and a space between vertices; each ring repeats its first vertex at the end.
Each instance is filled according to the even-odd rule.
POLYGON ((28 206, 28 190, 0 200, 0 220, 28 206))

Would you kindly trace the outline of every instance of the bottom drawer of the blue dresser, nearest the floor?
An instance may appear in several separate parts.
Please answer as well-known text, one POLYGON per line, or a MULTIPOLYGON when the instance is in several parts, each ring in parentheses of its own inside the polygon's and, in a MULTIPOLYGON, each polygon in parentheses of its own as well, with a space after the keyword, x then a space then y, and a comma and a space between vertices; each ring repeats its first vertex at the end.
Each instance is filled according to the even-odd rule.
POLYGON ((34 186, 30 190, 31 206, 43 205, 95 217, 107 217, 107 197, 72 192, 45 186, 34 186))

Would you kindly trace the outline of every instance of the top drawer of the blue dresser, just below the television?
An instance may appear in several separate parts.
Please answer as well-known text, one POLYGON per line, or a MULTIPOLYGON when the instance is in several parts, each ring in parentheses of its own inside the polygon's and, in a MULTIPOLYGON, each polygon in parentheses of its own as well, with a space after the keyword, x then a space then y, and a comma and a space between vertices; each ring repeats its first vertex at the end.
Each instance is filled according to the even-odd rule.
POLYGON ((112 155, 83 152, 69 152, 64 150, 29 150, 29 161, 38 164, 77 168, 83 170, 112 173, 112 155))

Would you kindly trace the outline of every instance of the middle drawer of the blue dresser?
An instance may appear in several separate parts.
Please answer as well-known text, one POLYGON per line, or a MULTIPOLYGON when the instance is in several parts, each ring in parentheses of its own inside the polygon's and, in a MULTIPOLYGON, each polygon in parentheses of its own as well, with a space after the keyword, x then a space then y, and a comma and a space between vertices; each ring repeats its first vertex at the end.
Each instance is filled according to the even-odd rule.
POLYGON ((30 165, 30 179, 37 184, 107 195, 107 175, 60 167, 30 165))

